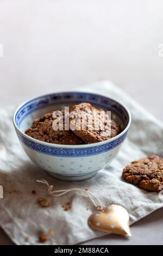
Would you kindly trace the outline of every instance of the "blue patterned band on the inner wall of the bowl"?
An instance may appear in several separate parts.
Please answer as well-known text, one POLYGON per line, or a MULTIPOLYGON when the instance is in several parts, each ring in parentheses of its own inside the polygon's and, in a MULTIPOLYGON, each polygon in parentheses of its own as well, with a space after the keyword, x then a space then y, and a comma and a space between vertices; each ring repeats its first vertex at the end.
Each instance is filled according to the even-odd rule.
POLYGON ((113 111, 121 118, 122 122, 128 123, 128 114, 126 109, 124 109, 120 103, 103 95, 83 92, 54 93, 36 97, 35 99, 24 103, 24 105, 18 109, 15 115, 15 123, 17 127, 20 128, 23 119, 26 118, 27 115, 42 107, 55 106, 58 104, 68 106, 69 104, 82 101, 90 102, 92 105, 99 108, 105 108, 108 111, 113 111))

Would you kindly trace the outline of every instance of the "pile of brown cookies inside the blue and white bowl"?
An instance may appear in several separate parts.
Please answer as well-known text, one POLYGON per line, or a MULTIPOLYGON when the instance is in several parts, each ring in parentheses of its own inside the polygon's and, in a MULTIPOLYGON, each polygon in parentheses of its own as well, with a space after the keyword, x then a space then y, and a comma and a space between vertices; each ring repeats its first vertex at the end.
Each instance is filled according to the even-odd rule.
POLYGON ((106 120, 109 117, 106 112, 103 109, 93 107, 90 103, 82 102, 72 106, 70 110, 70 129, 65 129, 65 111, 61 110, 59 111, 62 114, 61 117, 55 116, 55 120, 58 119, 57 121, 59 121, 62 118, 62 129, 54 130, 54 115, 53 113, 47 113, 34 120, 32 126, 25 133, 43 142, 79 145, 102 142, 115 137, 121 132, 120 126, 115 120, 110 119, 108 124, 106 120), (101 113, 103 114, 101 115, 101 113), (88 120, 91 120, 91 124, 88 120), (103 120, 105 121, 103 122, 103 120))

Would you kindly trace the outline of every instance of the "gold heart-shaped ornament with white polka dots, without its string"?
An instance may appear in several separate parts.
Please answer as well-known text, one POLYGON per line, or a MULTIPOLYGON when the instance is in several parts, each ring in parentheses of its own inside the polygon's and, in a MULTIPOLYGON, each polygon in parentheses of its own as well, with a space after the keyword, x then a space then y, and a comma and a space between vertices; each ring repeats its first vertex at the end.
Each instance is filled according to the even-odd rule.
POLYGON ((106 206, 103 211, 92 214, 88 222, 90 227, 100 231, 131 236, 128 212, 120 205, 106 206))

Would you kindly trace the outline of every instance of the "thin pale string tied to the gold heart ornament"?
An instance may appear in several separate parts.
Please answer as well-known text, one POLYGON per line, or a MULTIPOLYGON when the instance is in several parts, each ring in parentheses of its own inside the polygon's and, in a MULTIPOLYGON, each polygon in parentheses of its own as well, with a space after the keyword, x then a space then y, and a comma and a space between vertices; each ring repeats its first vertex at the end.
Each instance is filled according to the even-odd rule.
POLYGON ((71 191, 83 191, 84 193, 87 194, 87 196, 90 198, 91 202, 95 205, 96 208, 98 207, 98 205, 95 203, 95 200, 93 200, 93 197, 98 201, 101 210, 103 209, 101 200, 99 200, 99 199, 98 199, 94 194, 92 194, 91 192, 86 191, 84 188, 74 187, 74 188, 70 188, 70 189, 68 189, 68 190, 54 190, 54 191, 52 191, 52 190, 53 190, 53 185, 49 185, 46 180, 37 180, 37 182, 46 184, 47 187, 48 187, 48 188, 47 188, 48 194, 50 194, 51 196, 54 196, 54 197, 60 197, 60 196, 62 196, 63 194, 69 193, 69 192, 71 192, 71 191))

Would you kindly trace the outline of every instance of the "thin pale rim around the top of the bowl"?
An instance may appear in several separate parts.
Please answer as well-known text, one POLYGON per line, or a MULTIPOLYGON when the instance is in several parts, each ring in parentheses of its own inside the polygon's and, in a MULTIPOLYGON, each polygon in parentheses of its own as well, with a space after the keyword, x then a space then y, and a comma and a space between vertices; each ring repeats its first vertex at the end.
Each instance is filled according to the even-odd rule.
POLYGON ((36 99, 39 99, 40 97, 45 97, 45 96, 50 96, 50 95, 53 95, 54 93, 48 93, 48 94, 43 94, 43 95, 39 95, 39 96, 36 96, 36 97, 32 97, 26 101, 24 101, 21 105, 19 105, 15 112, 14 112, 14 115, 12 117, 12 122, 14 124, 14 127, 15 127, 15 130, 18 131, 19 133, 21 133, 21 135, 27 139, 29 139, 30 141, 34 142, 34 143, 37 143, 37 144, 42 144, 42 145, 45 145, 47 147, 54 147, 54 148, 67 148, 67 149, 76 149, 76 148, 91 148, 91 147, 98 147, 98 146, 101 146, 103 144, 106 144, 106 143, 110 143, 112 141, 115 141, 116 139, 122 137, 129 129, 130 127, 130 124, 131 124, 131 114, 130 114, 130 111, 128 109, 128 107, 126 105, 124 105, 121 101, 117 101, 115 100, 114 98, 112 97, 108 97, 108 96, 105 96, 103 94, 96 94, 96 93, 91 93, 91 92, 83 92, 83 91, 79 91, 79 90, 70 90, 70 91, 60 91, 60 92, 56 92, 57 94, 62 94, 62 93, 90 93, 92 95, 96 95, 96 96, 104 96, 110 100, 113 100, 115 101, 116 103, 118 103, 119 105, 121 105, 125 111, 127 112, 128 114, 128 124, 126 126, 126 128, 120 132, 118 135, 116 135, 115 137, 112 137, 110 139, 106 139, 105 141, 102 141, 102 142, 95 142, 95 143, 90 143, 90 144, 80 144, 80 145, 66 145, 66 144, 55 144, 55 143, 49 143, 49 142, 43 142, 43 141, 39 141, 38 139, 35 139, 35 138, 32 138, 28 135, 26 135, 26 133, 22 132, 16 125, 15 123, 15 116, 16 116, 16 113, 18 112, 18 110, 24 106, 26 103, 32 101, 32 100, 36 100, 36 99))

